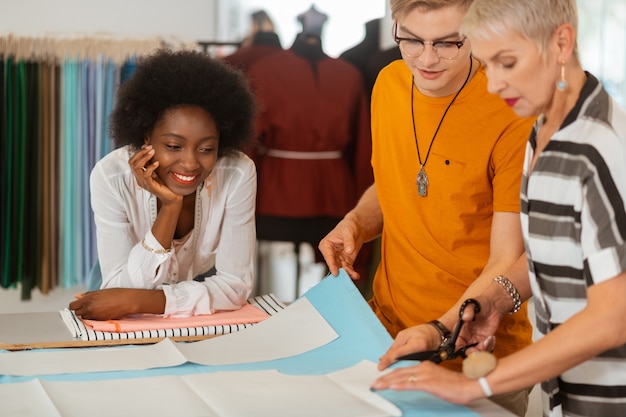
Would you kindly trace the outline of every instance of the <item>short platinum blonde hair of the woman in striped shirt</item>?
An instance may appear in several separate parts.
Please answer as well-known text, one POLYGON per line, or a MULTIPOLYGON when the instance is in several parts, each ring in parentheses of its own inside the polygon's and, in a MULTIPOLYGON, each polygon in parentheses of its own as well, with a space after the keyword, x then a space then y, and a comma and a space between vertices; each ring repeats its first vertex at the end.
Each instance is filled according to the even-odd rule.
MULTIPOLYGON (((545 54, 554 31, 564 23, 578 30, 576 0, 474 0, 461 24, 461 34, 489 39, 492 34, 514 30, 545 54)), ((574 50, 577 54, 577 48, 574 50)))

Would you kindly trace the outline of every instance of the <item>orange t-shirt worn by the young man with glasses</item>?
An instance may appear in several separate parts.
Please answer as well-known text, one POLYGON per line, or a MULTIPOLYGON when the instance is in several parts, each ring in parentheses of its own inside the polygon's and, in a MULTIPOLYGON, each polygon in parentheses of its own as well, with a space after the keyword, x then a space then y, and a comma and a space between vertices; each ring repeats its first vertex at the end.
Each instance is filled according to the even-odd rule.
MULTIPOLYGON (((372 96, 372 166, 384 217, 381 262, 370 300, 392 336, 440 317, 484 268, 494 211, 519 212, 524 147, 533 120, 520 119, 487 91, 480 69, 448 111, 425 165, 428 195, 417 192, 411 72, 395 61, 372 96)), ((424 162, 450 97, 414 90, 424 162)), ((496 356, 531 343, 527 310, 506 316, 496 356)))

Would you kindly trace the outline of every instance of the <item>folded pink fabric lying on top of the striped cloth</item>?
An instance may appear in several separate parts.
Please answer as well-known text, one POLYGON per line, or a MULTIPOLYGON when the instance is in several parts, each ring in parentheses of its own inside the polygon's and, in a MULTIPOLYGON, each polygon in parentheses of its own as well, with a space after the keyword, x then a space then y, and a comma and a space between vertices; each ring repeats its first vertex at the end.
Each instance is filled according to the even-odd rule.
POLYGON ((141 330, 258 323, 268 317, 269 314, 266 312, 253 305, 246 304, 239 310, 220 311, 214 314, 201 314, 191 317, 164 318, 156 314, 140 314, 128 316, 120 320, 100 321, 83 319, 83 323, 96 331, 121 333, 141 330))

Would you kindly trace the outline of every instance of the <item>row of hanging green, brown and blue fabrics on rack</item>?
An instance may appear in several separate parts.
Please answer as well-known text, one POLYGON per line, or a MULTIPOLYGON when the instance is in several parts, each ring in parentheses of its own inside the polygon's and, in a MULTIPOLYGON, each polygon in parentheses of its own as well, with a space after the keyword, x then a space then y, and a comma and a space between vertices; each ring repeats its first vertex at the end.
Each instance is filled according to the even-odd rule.
POLYGON ((0 36, 0 287, 30 299, 84 283, 96 259, 89 173, 111 150, 117 86, 164 44, 0 36))

